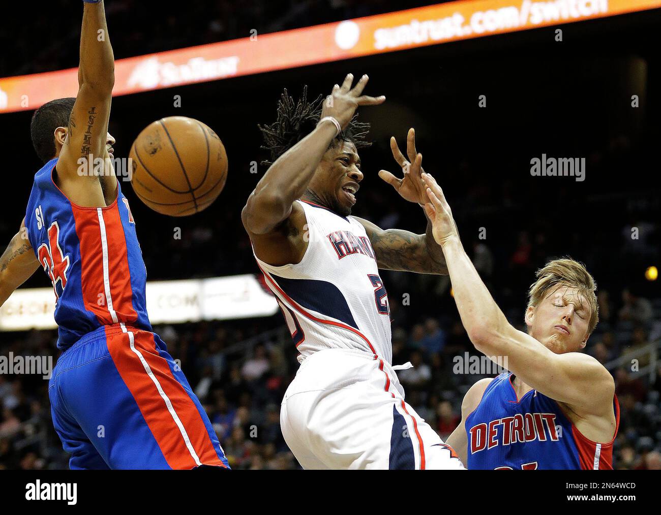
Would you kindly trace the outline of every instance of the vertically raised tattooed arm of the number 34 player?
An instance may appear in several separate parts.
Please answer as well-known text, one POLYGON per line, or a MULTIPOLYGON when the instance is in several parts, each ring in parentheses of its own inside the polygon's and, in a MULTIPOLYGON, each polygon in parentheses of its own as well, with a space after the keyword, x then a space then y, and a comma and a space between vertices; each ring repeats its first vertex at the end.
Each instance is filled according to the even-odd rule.
POLYGON ((86 1, 81 29, 78 94, 66 134, 56 135, 63 137, 56 165, 59 186, 79 205, 104 205, 100 181, 109 186, 106 193, 114 196, 116 191, 116 178, 112 168, 109 168, 106 148, 113 86, 114 55, 104 5, 102 1, 86 1), (99 158, 106 162, 106 168, 100 176, 95 176, 89 172, 94 160, 99 158))

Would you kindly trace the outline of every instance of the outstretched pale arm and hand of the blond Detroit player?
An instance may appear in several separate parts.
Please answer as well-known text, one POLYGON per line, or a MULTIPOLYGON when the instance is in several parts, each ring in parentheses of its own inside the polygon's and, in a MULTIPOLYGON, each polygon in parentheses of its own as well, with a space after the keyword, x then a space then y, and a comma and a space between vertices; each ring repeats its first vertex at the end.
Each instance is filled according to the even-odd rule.
POLYGON ((615 387, 602 364, 582 353, 554 353, 509 324, 463 250, 443 191, 432 176, 422 177, 430 197, 425 209, 446 256, 461 322, 475 348, 487 356, 506 357, 507 368, 526 384, 580 413, 612 414, 615 387))

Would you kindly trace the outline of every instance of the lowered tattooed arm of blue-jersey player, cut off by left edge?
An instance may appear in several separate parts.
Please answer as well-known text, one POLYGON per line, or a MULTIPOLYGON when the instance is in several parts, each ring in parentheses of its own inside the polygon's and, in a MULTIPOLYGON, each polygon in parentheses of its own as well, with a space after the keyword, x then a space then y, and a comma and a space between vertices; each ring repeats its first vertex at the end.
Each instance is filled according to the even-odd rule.
POLYGON ((9 246, 0 256, 0 306, 38 267, 39 261, 34 255, 23 221, 19 232, 11 238, 9 246))

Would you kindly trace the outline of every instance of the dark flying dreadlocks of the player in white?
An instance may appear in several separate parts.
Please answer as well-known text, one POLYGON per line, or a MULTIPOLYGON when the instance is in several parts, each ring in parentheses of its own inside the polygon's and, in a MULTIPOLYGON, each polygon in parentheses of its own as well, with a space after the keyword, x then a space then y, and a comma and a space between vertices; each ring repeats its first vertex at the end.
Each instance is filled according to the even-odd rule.
MULTIPOLYGON (((277 120, 270 125, 257 125, 264 137, 264 145, 261 148, 271 154, 271 159, 262 161, 262 165, 273 164, 278 157, 315 129, 321 116, 322 102, 323 95, 308 102, 307 86, 303 86, 303 94, 296 102, 289 96, 287 89, 282 92, 278 100, 277 120)), ((336 140, 351 141, 356 145, 356 149, 362 149, 371 145, 371 141, 365 139, 369 123, 357 121, 357 118, 358 115, 354 115, 349 125, 337 135, 336 140)))

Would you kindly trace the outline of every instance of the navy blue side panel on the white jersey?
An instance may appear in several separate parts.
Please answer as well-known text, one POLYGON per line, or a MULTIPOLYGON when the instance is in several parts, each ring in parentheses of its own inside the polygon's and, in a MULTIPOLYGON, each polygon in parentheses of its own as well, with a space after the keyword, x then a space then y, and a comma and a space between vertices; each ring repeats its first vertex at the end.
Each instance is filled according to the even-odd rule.
POLYGON ((317 279, 286 279, 273 273, 269 275, 278 283, 282 291, 304 308, 358 329, 346 298, 334 284, 317 279))

